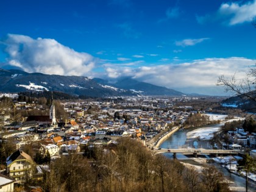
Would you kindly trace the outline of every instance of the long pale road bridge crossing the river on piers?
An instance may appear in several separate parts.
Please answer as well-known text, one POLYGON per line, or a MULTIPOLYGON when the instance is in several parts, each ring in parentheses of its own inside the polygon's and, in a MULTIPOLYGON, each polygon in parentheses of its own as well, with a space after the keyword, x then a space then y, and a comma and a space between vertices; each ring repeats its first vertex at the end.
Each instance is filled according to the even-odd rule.
POLYGON ((155 150, 155 155, 156 154, 162 154, 166 152, 171 152, 173 153, 174 158, 176 158, 177 153, 181 154, 193 154, 194 157, 197 157, 197 154, 201 155, 206 155, 206 154, 214 154, 216 157, 218 155, 237 155, 238 153, 242 151, 238 150, 222 150, 222 149, 204 149, 204 148, 199 148, 199 149, 187 149, 187 148, 180 148, 180 149, 157 149, 155 150))

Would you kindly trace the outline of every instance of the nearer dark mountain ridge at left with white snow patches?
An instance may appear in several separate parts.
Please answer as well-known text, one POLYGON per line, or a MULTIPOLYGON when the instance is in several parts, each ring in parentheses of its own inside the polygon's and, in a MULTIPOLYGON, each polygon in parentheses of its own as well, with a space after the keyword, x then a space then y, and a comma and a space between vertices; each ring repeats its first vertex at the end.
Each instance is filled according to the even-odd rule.
POLYGON ((0 92, 62 91, 92 97, 137 96, 130 90, 98 84, 88 77, 26 73, 17 69, 0 69, 0 92))

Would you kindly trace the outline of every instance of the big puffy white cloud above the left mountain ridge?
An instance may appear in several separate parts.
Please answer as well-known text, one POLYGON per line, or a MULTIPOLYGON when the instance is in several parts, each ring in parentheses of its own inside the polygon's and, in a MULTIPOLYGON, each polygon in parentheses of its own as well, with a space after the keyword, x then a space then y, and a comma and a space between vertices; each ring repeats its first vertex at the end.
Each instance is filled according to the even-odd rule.
POLYGON ((4 43, 5 52, 9 54, 9 65, 19 66, 29 73, 82 76, 90 73, 97 60, 54 39, 9 34, 4 43))

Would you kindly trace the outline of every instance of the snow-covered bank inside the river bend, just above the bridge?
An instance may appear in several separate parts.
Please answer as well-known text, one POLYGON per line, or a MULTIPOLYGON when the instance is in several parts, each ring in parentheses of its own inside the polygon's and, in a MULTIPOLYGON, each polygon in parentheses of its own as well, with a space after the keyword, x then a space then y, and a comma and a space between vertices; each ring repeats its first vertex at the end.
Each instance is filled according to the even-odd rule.
POLYGON ((200 140, 211 140, 213 133, 218 132, 219 127, 204 127, 187 133, 187 139, 199 138, 200 140))

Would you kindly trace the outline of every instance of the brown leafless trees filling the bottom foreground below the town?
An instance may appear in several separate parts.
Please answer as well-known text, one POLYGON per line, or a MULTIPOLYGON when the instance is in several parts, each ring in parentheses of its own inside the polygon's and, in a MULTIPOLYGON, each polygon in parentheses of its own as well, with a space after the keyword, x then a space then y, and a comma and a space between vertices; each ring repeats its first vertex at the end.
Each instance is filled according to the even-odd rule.
POLYGON ((122 138, 105 148, 85 147, 83 154, 62 155, 43 178, 26 181, 43 191, 229 191, 221 172, 187 168, 164 155, 152 155, 136 140, 122 138))

